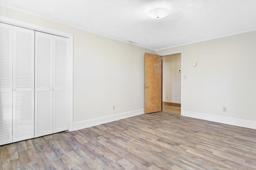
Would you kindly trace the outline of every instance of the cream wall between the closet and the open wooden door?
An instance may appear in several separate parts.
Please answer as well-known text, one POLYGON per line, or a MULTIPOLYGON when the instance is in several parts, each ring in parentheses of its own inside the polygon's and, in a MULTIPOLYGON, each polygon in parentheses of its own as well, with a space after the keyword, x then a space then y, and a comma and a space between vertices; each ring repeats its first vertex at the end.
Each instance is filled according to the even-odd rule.
POLYGON ((4 7, 0 15, 74 34, 74 122, 144 108, 144 53, 154 51, 4 7))

